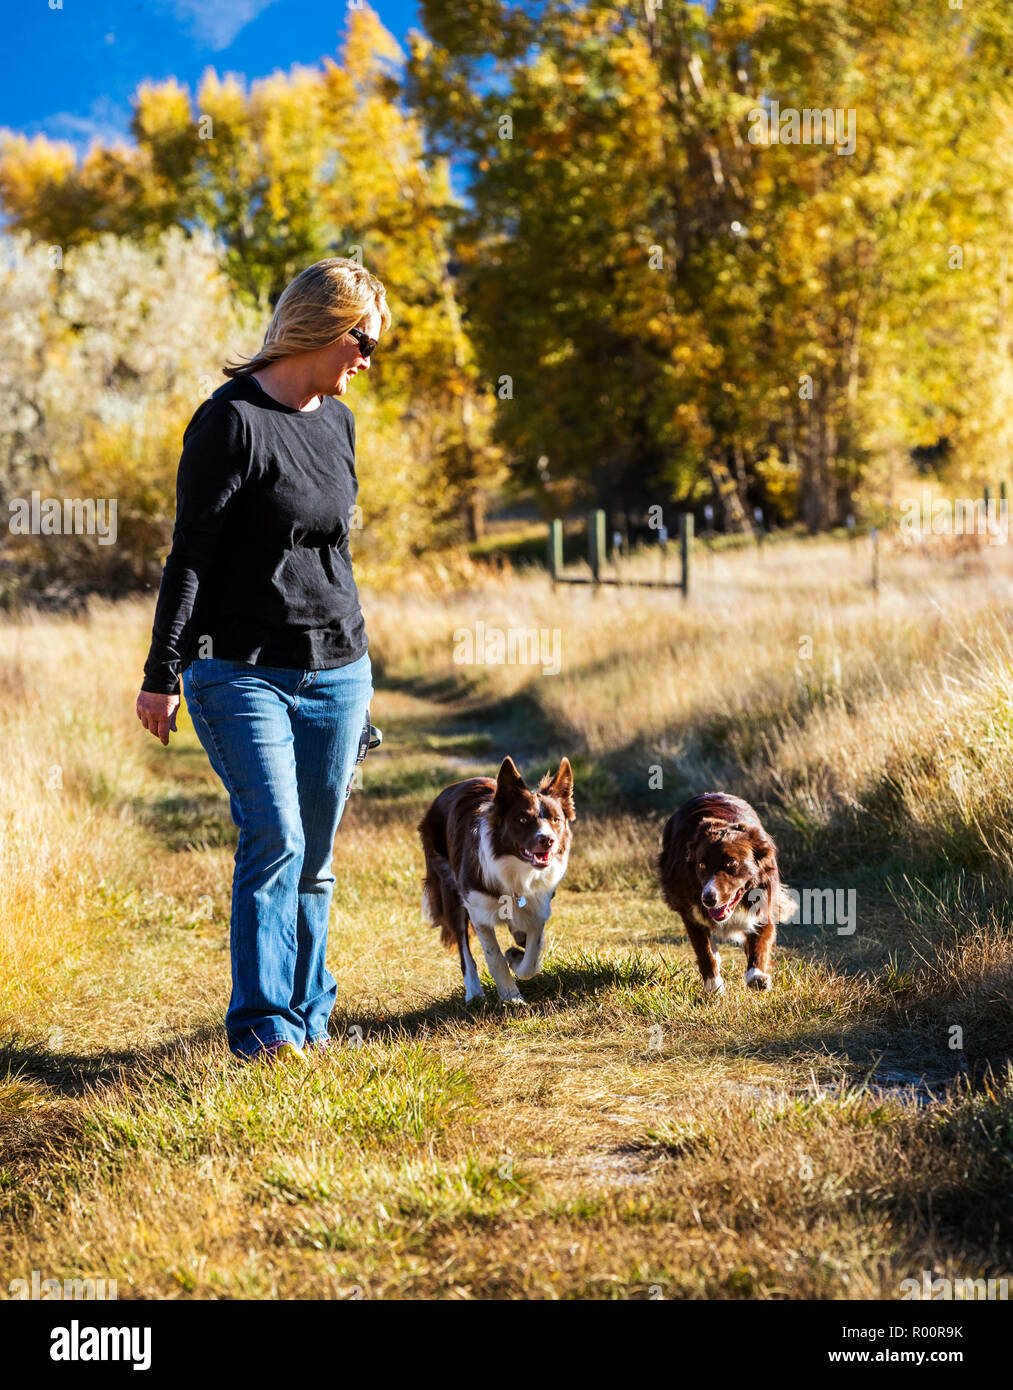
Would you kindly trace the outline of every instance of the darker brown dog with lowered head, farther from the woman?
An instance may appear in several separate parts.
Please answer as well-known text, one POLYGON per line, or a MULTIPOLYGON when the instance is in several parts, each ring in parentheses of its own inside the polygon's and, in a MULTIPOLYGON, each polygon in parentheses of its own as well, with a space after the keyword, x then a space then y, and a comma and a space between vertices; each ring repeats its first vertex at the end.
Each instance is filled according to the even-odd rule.
POLYGON ((711 937, 746 952, 746 984, 770 988, 777 923, 795 903, 781 885, 777 848, 748 801, 720 791, 693 796, 661 831, 657 858, 664 901, 678 912, 696 952, 703 988, 721 994, 721 956, 711 937))

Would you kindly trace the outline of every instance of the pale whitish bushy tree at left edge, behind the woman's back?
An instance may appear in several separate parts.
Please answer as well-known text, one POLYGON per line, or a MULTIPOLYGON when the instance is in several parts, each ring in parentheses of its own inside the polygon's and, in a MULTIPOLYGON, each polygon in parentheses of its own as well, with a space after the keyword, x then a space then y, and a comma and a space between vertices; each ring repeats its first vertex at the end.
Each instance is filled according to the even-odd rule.
POLYGON ((57 265, 28 234, 4 238, 3 491, 117 506, 108 546, 6 530, 25 569, 115 588, 157 582, 183 427, 249 331, 207 234, 171 228, 150 246, 104 234, 57 265))

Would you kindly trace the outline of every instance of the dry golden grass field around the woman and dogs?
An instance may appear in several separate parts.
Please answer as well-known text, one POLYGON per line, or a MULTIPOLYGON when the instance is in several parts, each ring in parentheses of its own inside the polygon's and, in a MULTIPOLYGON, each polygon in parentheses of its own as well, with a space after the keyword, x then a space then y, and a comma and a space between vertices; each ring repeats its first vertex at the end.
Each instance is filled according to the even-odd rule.
MULTIPOLYGON (((654 559, 635 562, 646 567, 654 559)), ((1010 1273, 1013 567, 792 542, 696 594, 363 595, 382 749, 335 847, 304 1073, 221 1020, 235 830, 189 720, 133 713, 153 600, 0 624, 0 1250, 124 1297, 898 1298, 1010 1273), (459 664, 557 632, 561 667, 459 664), (454 635, 457 634, 457 637, 454 635), (567 753, 545 973, 504 1015, 420 920, 449 781, 567 753), (660 785, 659 785, 660 781, 660 785), (795 888, 774 988, 705 997, 653 877, 685 796, 750 799, 795 888), (360 1042, 361 1037, 361 1042, 360 1042)))

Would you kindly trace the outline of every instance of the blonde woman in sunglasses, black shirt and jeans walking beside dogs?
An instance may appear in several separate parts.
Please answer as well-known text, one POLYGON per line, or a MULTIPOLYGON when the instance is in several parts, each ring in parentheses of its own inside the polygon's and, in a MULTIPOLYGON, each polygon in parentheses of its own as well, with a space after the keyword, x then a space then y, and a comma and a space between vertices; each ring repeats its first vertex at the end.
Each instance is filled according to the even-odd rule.
POLYGON ((333 398, 368 371, 389 324, 375 275, 317 261, 183 435, 138 717, 168 744, 182 677, 229 794, 225 1026, 243 1059, 304 1062, 304 1045, 325 1045, 335 1002, 331 852, 372 680, 349 556, 356 423, 333 398))

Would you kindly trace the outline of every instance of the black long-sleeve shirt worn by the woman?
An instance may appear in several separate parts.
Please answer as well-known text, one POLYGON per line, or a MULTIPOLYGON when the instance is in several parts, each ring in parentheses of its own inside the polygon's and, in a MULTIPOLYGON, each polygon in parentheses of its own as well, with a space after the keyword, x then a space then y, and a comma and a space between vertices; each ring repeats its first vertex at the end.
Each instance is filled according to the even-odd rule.
POLYGON ((178 694, 197 656, 297 670, 359 660, 368 641, 349 556, 357 493, 343 402, 297 410, 252 377, 220 386, 183 434, 140 688, 178 694))

